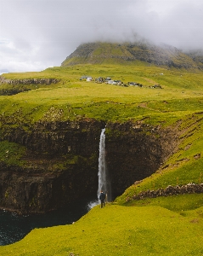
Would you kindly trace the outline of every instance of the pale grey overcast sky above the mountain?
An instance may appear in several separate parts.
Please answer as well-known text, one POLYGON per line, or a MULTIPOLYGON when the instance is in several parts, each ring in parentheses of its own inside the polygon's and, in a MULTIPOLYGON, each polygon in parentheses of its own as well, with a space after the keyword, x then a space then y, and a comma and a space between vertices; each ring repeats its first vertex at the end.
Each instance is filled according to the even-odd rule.
POLYGON ((79 44, 203 48, 202 0, 0 0, 0 73, 60 66, 79 44))

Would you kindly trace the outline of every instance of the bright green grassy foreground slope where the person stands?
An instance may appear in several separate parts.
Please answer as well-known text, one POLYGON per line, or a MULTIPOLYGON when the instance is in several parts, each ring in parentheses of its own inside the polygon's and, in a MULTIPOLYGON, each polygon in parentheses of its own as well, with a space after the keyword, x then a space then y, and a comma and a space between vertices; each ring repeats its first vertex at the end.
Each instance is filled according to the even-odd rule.
POLYGON ((162 207, 110 205, 75 224, 32 230, 1 255, 202 255, 202 207, 183 216, 162 207), (72 253, 72 254, 71 254, 72 253))

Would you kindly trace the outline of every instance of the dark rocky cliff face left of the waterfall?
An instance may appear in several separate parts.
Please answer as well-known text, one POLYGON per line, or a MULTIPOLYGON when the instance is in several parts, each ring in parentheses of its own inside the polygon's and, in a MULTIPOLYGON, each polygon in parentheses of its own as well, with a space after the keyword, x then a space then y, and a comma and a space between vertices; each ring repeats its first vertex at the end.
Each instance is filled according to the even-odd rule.
MULTIPOLYGON (((39 122, 28 131, 13 129, 2 141, 25 146, 23 165, 0 166, 0 207, 48 212, 93 195, 98 186, 99 135, 95 120, 39 122)), ((8 153, 9 154, 9 153, 8 153)))

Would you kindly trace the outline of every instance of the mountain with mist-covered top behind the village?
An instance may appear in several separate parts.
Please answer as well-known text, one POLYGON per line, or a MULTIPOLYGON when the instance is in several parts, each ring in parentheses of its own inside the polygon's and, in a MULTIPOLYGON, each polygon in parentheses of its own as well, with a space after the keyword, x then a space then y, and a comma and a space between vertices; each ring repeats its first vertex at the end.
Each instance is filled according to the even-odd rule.
POLYGON ((81 44, 70 54, 62 67, 76 64, 136 64, 144 62, 156 66, 202 69, 203 55, 198 52, 184 53, 170 45, 161 46, 148 41, 135 43, 88 43, 81 44))

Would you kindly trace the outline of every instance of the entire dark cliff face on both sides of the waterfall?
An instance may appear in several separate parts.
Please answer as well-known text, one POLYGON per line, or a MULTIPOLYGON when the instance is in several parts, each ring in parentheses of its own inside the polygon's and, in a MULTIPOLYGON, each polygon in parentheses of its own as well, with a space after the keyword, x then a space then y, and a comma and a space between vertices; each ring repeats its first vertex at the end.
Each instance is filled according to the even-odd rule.
MULTIPOLYGON (((0 166, 0 207, 48 212, 96 195, 99 136, 104 123, 93 119, 38 122, 28 130, 2 133, 1 141, 26 148, 22 165, 0 166)), ((142 123, 106 124, 106 160, 113 198, 155 172, 172 154, 176 131, 142 123)))

